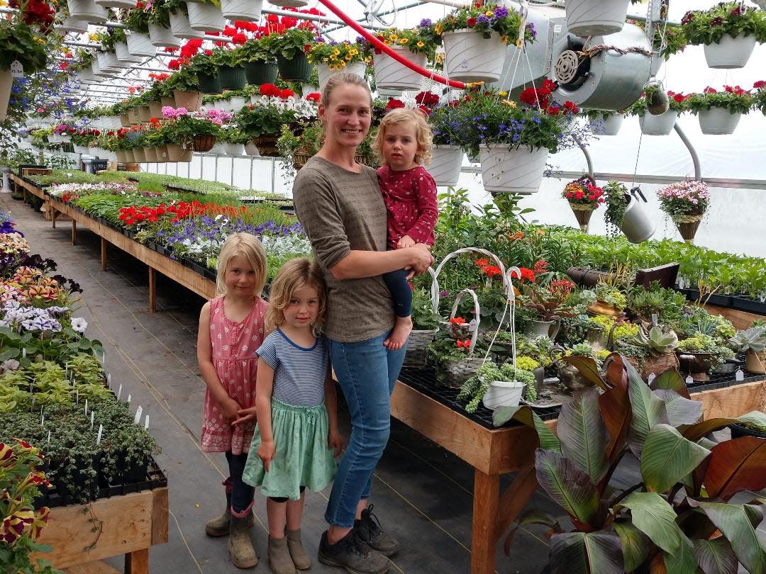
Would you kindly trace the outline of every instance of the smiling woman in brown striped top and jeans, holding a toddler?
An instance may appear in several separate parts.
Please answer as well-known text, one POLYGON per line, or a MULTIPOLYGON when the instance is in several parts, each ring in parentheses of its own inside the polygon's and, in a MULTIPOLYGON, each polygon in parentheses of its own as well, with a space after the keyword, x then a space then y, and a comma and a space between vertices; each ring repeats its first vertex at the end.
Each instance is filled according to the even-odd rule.
POLYGON ((404 360, 404 347, 389 351, 383 345, 395 317, 381 275, 404 268, 420 274, 434 261, 421 244, 386 251, 378 176, 354 159, 371 117, 365 80, 333 74, 319 103, 325 143, 293 185, 296 214, 327 282, 325 332, 352 422, 327 504, 329 528, 319 543, 319 561, 365 574, 385 572, 385 556, 398 548, 368 507, 372 474, 388 442, 391 392, 404 360))

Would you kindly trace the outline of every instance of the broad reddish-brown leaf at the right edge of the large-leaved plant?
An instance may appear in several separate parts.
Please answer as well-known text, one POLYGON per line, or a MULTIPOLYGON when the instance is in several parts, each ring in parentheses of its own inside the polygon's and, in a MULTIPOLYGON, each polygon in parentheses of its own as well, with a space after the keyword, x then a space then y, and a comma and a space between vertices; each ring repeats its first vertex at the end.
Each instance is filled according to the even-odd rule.
POLYGON ((740 491, 766 488, 766 441, 743 436, 715 445, 704 482, 709 497, 725 501, 740 491))

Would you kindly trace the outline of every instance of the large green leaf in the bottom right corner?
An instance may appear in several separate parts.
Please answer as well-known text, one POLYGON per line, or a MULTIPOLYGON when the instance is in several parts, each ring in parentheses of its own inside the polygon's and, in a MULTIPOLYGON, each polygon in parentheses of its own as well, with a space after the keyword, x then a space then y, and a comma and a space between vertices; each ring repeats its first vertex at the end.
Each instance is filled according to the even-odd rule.
POLYGON ((761 506, 755 504, 726 504, 695 501, 686 498, 692 507, 702 508, 715 527, 721 530, 737 559, 753 574, 766 572, 766 549, 755 529, 763 520, 761 506))

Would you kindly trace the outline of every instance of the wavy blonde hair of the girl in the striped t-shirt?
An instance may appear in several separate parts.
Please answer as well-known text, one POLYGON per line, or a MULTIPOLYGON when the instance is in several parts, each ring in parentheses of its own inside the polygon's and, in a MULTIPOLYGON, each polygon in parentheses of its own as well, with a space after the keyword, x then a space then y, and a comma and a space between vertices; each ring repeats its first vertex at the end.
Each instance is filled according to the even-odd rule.
POLYGON ((269 308, 266 311, 265 328, 273 331, 285 322, 284 310, 290 305, 293 293, 304 287, 313 287, 319 295, 319 311, 311 325, 316 335, 325 323, 327 308, 327 287, 322 270, 316 261, 307 257, 290 259, 277 272, 269 289, 269 308))

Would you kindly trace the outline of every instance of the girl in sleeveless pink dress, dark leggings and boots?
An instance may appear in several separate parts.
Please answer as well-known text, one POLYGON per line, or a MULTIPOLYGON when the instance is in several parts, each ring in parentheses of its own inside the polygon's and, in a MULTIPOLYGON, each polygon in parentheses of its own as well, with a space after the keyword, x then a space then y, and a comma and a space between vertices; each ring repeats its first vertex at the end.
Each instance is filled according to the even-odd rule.
POLYGON ((247 532, 253 523, 254 488, 242 481, 256 422, 232 423, 239 419, 237 411, 255 404, 256 351, 264 341, 267 309, 260 293, 266 275, 260 241, 249 233, 229 236, 218 257, 218 296, 202 307, 197 335, 199 370, 207 385, 202 452, 225 452, 229 465, 226 510, 205 524, 205 532, 228 534, 229 556, 239 568, 258 562, 247 532))

